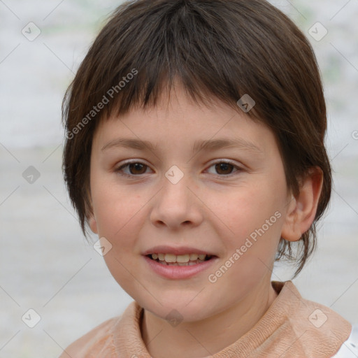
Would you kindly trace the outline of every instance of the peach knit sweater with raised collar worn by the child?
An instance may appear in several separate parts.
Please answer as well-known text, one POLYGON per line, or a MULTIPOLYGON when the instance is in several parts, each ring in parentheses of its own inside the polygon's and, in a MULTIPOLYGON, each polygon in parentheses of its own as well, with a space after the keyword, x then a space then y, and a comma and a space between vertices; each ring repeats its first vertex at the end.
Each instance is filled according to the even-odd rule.
MULTIPOLYGON (((330 308, 303 299, 291 281, 272 282, 277 298, 238 341, 213 358, 328 358, 347 341, 351 324, 330 308)), ((72 343, 59 358, 151 358, 141 338, 143 308, 135 301, 72 343)))

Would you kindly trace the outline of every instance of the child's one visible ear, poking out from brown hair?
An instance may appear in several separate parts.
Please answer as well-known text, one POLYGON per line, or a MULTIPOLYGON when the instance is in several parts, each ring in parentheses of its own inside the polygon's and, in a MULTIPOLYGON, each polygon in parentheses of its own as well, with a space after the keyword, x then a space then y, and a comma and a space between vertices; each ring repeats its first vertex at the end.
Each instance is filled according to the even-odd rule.
POLYGON ((299 194, 292 196, 287 204, 285 222, 281 237, 287 241, 299 241, 310 228, 317 212, 317 205, 322 191, 323 173, 319 167, 308 171, 301 180, 299 194))

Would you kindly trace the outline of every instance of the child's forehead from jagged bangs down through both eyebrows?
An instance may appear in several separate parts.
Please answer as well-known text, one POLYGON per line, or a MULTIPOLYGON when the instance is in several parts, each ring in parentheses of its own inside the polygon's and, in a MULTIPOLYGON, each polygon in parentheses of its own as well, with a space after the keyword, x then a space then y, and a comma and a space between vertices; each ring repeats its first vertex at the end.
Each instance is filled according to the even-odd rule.
POLYGON ((110 115, 102 120, 94 142, 101 150, 116 145, 155 150, 166 145, 177 150, 236 147, 265 152, 275 146, 266 124, 219 99, 198 103, 180 86, 169 94, 164 92, 155 106, 134 107, 125 115, 110 115))

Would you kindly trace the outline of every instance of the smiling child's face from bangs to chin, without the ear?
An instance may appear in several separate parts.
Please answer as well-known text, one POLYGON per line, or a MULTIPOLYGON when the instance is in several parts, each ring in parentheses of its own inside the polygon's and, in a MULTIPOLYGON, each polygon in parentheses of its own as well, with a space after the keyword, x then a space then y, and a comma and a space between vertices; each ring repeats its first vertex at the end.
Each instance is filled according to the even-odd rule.
POLYGON ((157 317, 204 320, 268 287, 285 172, 271 130, 239 109, 198 106, 177 87, 103 120, 90 189, 110 272, 157 317))

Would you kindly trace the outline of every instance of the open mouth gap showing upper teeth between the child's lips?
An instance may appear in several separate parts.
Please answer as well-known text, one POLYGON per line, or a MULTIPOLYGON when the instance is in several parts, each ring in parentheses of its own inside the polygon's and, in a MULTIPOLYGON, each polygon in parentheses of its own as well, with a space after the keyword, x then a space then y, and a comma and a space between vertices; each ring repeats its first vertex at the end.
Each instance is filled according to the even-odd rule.
POLYGON ((194 253, 185 255, 173 255, 162 252, 153 253, 146 256, 164 266, 194 266, 196 264, 203 264, 203 262, 215 258, 215 255, 194 253))

